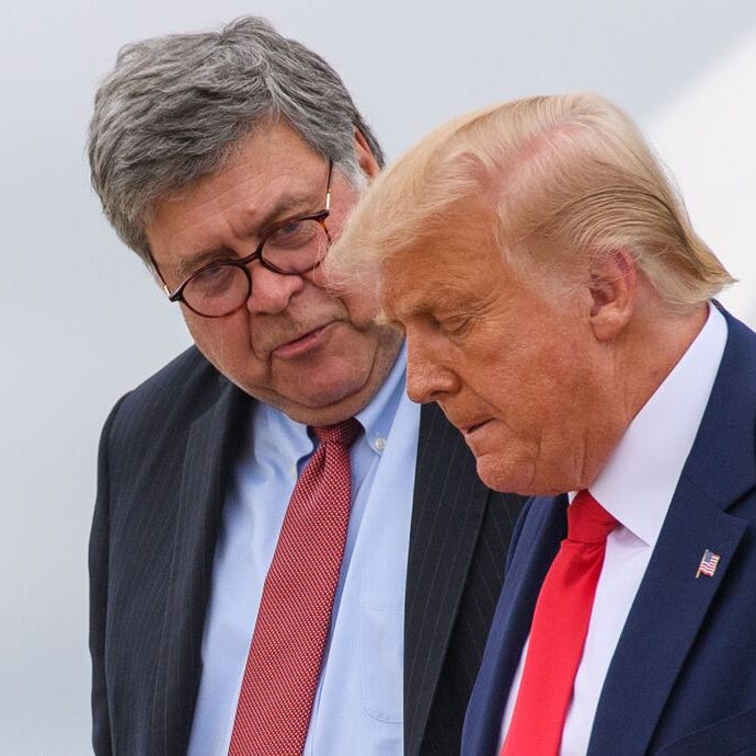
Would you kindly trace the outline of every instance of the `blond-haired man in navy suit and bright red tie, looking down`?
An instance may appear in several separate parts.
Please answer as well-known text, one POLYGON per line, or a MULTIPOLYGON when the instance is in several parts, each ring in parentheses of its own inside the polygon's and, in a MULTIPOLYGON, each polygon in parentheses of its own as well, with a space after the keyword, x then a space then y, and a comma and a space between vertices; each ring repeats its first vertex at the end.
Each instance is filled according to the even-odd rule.
POLYGON ((756 748, 756 335, 632 122, 584 94, 459 118, 330 264, 377 276, 411 398, 532 495, 462 753, 756 748))

